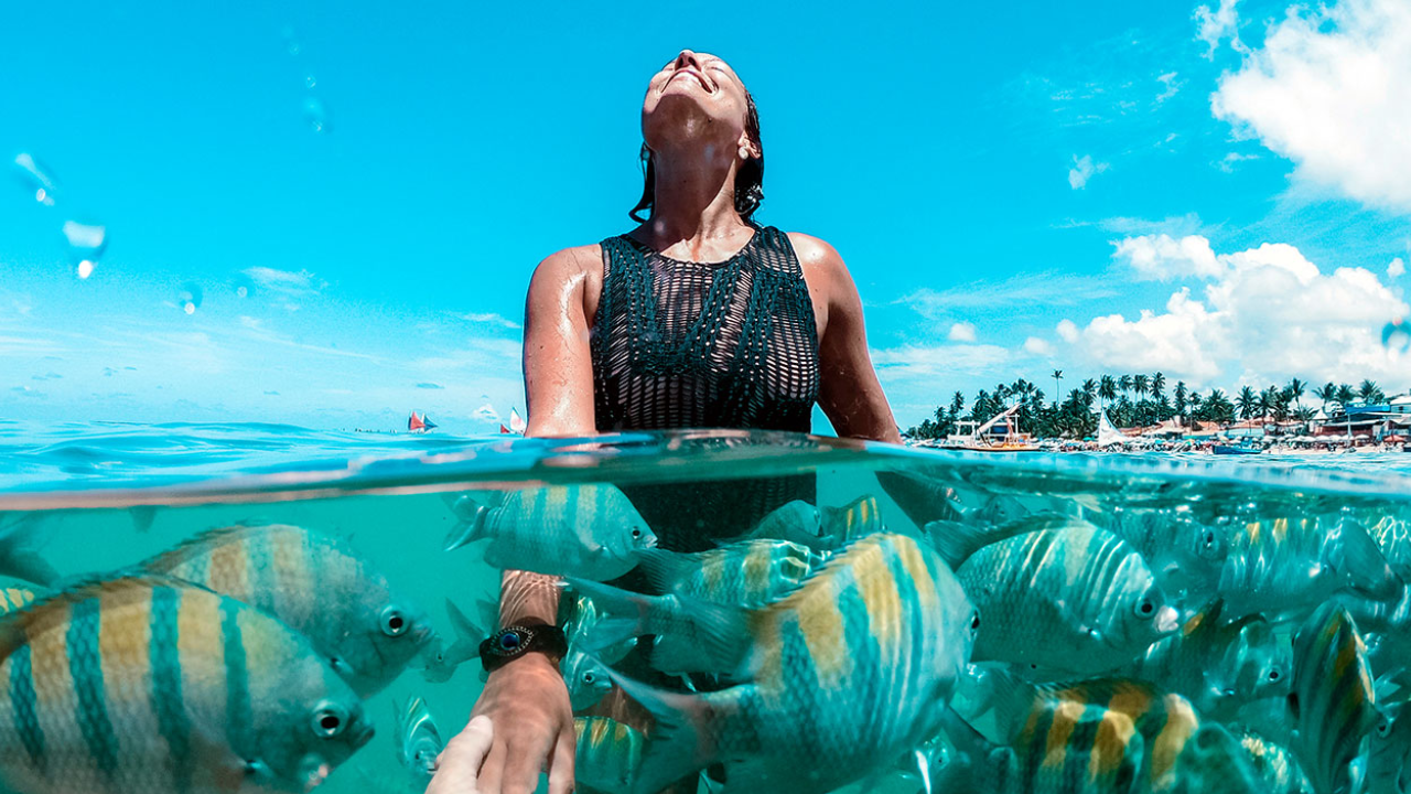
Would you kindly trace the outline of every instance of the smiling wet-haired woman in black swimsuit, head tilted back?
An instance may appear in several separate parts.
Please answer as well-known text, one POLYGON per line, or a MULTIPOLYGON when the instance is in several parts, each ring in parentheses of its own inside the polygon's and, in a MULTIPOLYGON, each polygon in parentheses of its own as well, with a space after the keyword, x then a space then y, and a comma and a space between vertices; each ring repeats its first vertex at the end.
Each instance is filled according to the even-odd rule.
MULTIPOLYGON (((682 51, 648 83, 642 136, 642 225, 550 256, 529 284, 526 435, 807 431, 817 401, 840 435, 899 442, 842 259, 752 222, 759 119, 729 65, 682 51)), ((557 606, 552 579, 505 572, 502 626, 553 623, 557 606)), ((491 672, 474 713, 428 794, 528 794, 543 769, 550 794, 573 788, 573 713, 550 656, 491 672)))

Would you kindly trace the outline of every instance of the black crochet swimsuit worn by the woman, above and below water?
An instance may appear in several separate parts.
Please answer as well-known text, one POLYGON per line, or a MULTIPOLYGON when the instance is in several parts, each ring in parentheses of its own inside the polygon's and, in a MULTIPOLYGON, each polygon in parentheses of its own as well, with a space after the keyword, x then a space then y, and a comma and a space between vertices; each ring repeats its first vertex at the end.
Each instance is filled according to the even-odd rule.
MULTIPOLYGON (((591 329, 597 428, 809 432, 818 331, 787 235, 772 226, 722 263, 677 261, 626 235, 602 240, 591 329)), ((624 487, 663 548, 711 548, 814 478, 624 487)))

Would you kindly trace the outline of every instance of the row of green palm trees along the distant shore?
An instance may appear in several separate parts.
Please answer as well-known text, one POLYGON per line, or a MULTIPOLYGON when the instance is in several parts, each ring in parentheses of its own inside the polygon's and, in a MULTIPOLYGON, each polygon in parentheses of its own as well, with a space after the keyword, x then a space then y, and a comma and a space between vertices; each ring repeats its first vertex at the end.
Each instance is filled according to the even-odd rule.
MULTIPOLYGON (((1057 386, 1062 370, 1050 376, 1057 386)), ((1098 432, 1098 413, 1105 410, 1118 427, 1151 427, 1165 421, 1189 431, 1228 427, 1236 421, 1273 420, 1311 421, 1319 410, 1335 405, 1369 405, 1387 400, 1376 381, 1325 383, 1309 386, 1291 379, 1283 386, 1270 384, 1256 390, 1243 386, 1226 394, 1221 389, 1201 391, 1184 380, 1174 384, 1157 372, 1151 374, 1103 374, 1086 379, 1068 391, 1062 401, 1047 401, 1044 391, 1030 380, 999 383, 981 389, 969 401, 957 391, 950 401, 935 407, 934 414, 907 429, 912 438, 945 438, 961 431, 961 422, 983 422, 1009 407, 1017 405, 1019 427, 1038 438, 1088 438, 1098 432)))

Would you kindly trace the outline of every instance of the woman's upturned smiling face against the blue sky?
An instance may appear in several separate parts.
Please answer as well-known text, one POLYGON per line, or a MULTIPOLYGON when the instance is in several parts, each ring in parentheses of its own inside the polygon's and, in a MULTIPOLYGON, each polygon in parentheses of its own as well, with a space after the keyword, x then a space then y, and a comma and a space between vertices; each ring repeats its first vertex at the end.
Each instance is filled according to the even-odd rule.
POLYGON ((724 157, 755 144, 745 134, 745 85, 729 64, 683 49, 652 75, 642 102, 642 137, 658 150, 673 141, 703 138, 724 157))

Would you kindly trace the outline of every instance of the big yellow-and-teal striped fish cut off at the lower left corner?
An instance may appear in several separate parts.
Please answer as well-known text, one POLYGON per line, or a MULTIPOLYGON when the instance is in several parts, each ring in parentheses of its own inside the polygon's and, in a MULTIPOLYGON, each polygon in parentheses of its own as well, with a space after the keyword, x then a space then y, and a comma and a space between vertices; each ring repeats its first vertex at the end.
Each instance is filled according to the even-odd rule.
POLYGON ((296 632, 175 579, 0 620, 0 778, 25 794, 308 791, 373 736, 296 632))

